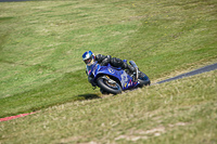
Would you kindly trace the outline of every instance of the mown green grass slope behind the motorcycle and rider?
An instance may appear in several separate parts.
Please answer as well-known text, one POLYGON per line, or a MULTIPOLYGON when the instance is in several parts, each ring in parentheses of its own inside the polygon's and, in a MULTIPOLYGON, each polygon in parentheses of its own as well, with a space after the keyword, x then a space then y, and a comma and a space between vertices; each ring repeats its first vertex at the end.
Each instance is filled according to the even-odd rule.
POLYGON ((100 96, 81 62, 89 49, 136 61, 153 81, 216 62, 216 8, 215 0, 1 3, 0 117, 100 96))

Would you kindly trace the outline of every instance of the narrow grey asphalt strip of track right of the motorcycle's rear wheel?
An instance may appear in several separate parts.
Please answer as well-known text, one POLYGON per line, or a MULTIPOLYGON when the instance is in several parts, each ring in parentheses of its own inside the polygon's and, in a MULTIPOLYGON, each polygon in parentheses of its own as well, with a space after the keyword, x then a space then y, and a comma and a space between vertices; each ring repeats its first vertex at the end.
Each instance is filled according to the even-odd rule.
MULTIPOLYGON (((176 76, 174 78, 162 80, 162 81, 156 82, 156 83, 159 84, 159 83, 168 82, 168 81, 171 81, 171 80, 177 80, 177 79, 181 79, 181 78, 184 78, 184 77, 194 76, 194 75, 197 75, 197 74, 212 71, 212 70, 215 70, 215 69, 217 69, 217 63, 202 67, 202 68, 199 68, 199 69, 195 69, 195 70, 192 70, 192 71, 189 71, 189 73, 186 73, 186 74, 182 74, 182 75, 179 75, 179 76, 176 76)), ((156 84, 156 83, 153 83, 153 84, 156 84)))

